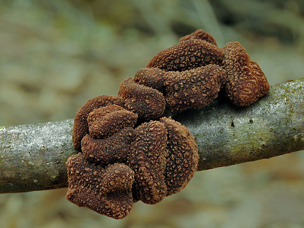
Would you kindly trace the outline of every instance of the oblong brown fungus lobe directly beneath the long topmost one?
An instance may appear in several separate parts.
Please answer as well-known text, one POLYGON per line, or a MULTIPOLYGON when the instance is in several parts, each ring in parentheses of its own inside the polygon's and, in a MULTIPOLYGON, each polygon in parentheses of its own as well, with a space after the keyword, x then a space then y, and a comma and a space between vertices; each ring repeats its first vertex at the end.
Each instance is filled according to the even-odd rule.
POLYGON ((164 79, 167 107, 172 112, 181 112, 203 107, 217 98, 225 83, 226 71, 209 64, 189 71, 167 72, 164 79))

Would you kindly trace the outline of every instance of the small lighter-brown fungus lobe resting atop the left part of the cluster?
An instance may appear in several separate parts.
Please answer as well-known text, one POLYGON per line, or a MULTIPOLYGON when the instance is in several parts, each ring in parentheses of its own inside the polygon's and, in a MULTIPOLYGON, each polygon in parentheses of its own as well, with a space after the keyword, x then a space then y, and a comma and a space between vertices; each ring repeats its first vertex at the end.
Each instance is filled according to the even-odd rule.
POLYGON ((124 127, 134 127, 137 114, 111 104, 90 112, 87 120, 90 135, 95 138, 105 138, 124 127))

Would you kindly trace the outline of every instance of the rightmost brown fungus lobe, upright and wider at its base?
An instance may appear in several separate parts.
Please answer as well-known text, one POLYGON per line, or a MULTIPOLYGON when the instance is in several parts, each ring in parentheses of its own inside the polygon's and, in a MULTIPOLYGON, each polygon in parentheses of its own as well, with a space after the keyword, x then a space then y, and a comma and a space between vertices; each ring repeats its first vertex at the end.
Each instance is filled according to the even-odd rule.
POLYGON ((268 93, 267 78, 239 42, 226 45, 223 67, 228 75, 225 91, 233 104, 248 106, 268 93))

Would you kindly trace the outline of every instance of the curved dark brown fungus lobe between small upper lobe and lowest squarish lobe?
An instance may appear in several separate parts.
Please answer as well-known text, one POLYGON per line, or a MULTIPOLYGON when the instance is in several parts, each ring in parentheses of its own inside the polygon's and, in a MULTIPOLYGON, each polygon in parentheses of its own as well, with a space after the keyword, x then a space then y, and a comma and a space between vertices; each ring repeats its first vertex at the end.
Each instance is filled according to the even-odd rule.
POLYGON ((134 134, 132 127, 125 127, 105 139, 95 139, 87 134, 81 140, 81 151, 87 159, 101 164, 124 163, 134 134))

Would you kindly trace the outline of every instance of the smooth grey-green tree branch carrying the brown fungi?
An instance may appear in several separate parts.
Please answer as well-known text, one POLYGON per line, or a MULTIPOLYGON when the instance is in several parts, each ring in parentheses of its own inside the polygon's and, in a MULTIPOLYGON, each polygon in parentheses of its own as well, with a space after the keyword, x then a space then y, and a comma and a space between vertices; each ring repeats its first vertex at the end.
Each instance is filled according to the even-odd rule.
MULTIPOLYGON (((214 101, 173 116, 199 146, 198 170, 304 149, 304 78, 271 86, 249 107, 214 101)), ((67 187, 65 162, 77 151, 73 119, 0 127, 0 193, 67 187)))

